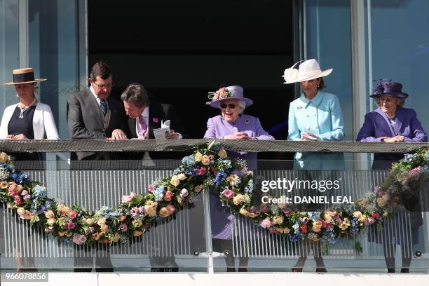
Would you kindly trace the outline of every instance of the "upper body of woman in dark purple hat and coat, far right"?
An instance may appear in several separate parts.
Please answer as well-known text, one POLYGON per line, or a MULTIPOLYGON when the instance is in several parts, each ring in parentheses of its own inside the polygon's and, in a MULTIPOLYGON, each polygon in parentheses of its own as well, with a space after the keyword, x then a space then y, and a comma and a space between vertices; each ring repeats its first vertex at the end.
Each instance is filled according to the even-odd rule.
MULTIPOLYGON (((357 135, 360 142, 426 142, 428 135, 421 127, 414 109, 404 108, 407 93, 402 93, 402 84, 381 80, 371 97, 379 108, 365 115, 365 122, 357 135)), ((374 154, 373 170, 390 169, 393 162, 404 154, 374 154)))

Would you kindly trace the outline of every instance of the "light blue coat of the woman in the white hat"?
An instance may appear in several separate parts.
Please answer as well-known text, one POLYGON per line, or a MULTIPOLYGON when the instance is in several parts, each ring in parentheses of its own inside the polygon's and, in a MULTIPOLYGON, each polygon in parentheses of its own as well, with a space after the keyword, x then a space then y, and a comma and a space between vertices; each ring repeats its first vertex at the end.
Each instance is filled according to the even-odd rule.
MULTIPOLYGON (((313 100, 304 94, 290 103, 288 140, 299 141, 301 132, 312 132, 322 141, 341 141, 344 138, 344 121, 338 97, 318 91, 313 100)), ((294 169, 341 170, 342 153, 295 154, 294 169)))

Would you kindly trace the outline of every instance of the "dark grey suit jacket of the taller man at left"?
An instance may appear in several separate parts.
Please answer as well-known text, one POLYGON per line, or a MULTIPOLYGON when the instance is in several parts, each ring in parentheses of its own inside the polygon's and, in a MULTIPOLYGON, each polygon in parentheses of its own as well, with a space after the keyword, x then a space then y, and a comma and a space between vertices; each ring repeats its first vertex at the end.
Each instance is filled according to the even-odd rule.
MULTIPOLYGON (((67 96, 67 124, 71 139, 106 139, 115 129, 125 130, 123 104, 107 98, 109 111, 102 116, 100 106, 89 88, 67 96)), ((79 152, 79 160, 92 156, 93 152, 79 152)))

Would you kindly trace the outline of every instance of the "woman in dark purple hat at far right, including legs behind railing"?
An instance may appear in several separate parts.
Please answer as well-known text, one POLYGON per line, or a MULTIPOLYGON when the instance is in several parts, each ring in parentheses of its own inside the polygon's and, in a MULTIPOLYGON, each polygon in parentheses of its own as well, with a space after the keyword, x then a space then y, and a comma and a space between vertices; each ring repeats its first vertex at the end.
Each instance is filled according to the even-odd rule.
MULTIPOLYGON (((371 95, 379 108, 365 115, 365 122, 357 135, 360 142, 426 142, 428 135, 421 127, 414 109, 404 108, 407 93, 402 93, 402 84, 382 79, 371 95)), ((404 154, 376 153, 372 170, 388 170, 392 163, 404 158, 404 154)), ((409 212, 412 241, 404 233, 404 217, 408 213, 396 214, 381 231, 370 230, 370 241, 383 244, 384 258, 389 273, 395 272, 396 245, 401 245, 402 273, 409 272, 412 244, 418 243, 418 226, 423 224, 420 203, 413 196, 403 196, 402 203, 409 212), (381 236, 380 236, 381 234, 381 236)), ((407 219, 408 220, 408 219, 407 219)))

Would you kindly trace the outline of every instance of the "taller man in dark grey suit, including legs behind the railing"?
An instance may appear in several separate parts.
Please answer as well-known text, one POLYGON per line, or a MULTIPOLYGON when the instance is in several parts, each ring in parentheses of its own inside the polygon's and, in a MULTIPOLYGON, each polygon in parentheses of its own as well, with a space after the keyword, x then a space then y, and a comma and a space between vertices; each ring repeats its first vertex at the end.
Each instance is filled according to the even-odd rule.
MULTIPOLYGON (((127 139, 125 132, 125 111, 121 102, 109 97, 113 86, 110 67, 97 62, 90 71, 90 87, 67 96, 67 123, 71 139, 127 139)), ((87 160, 109 160, 114 158, 107 152, 78 152, 71 154, 71 170, 88 168, 87 160)), ((100 168, 96 163, 91 168, 100 168)), ((71 184, 74 184, 72 179, 71 184)), ((72 185, 73 186, 73 185, 72 185)), ((95 265, 98 272, 113 271, 109 246, 97 246, 95 265)), ((74 271, 92 271, 93 250, 75 246, 74 271), (81 255, 85 252, 84 255, 81 255), (82 257, 83 256, 83 257, 82 257), (89 256, 89 257, 88 257, 89 256)))

